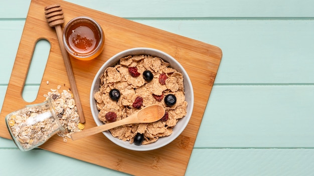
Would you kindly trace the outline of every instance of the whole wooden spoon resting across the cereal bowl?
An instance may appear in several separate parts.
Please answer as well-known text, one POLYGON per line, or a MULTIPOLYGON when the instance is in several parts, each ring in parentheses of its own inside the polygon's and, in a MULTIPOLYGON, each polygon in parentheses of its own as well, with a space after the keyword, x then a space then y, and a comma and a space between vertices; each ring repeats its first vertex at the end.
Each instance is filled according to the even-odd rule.
POLYGON ((131 123, 150 123, 161 119, 165 115, 165 109, 163 106, 158 104, 148 105, 132 115, 123 118, 118 121, 114 121, 111 123, 106 123, 100 126, 92 127, 89 129, 85 129, 80 132, 74 132, 71 135, 72 140, 80 139, 89 135, 93 135, 117 126, 121 126, 123 124, 131 124, 131 123))

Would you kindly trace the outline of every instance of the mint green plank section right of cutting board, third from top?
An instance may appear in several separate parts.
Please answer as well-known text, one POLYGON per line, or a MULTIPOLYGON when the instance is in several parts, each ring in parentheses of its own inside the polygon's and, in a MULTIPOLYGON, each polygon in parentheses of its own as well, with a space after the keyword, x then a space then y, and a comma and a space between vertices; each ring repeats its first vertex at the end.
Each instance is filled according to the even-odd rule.
POLYGON ((195 147, 314 147, 314 86, 215 85, 195 147))

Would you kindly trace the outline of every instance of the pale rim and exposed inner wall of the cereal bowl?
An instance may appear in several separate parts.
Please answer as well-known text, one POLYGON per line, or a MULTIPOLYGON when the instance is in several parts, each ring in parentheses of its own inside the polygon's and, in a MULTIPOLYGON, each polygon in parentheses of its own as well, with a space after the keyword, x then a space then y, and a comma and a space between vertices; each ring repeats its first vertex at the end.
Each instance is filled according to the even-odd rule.
MULTIPOLYGON (((119 139, 117 137, 112 136, 112 134, 111 134, 111 132, 109 130, 102 132, 110 141, 112 141, 116 145, 121 146, 121 147, 126 148, 126 149, 135 150, 135 151, 153 150, 153 149, 161 148, 161 147, 171 143, 173 140, 175 140, 183 132, 183 130, 188 125, 188 123, 190 121, 190 118, 192 116, 193 107, 194 107, 194 91, 193 91, 192 82, 191 82, 191 79, 190 79, 188 73, 186 72, 184 67, 179 63, 179 61, 176 60, 173 56, 171 56, 168 53, 166 53, 164 51, 161 51, 159 49, 154 49, 154 48, 149 48, 149 47, 134 47, 134 48, 129 48, 129 49, 126 49, 126 50, 122 50, 122 51, 114 54, 112 57, 110 57, 108 60, 106 60, 102 64, 102 66, 98 69, 97 73, 94 76, 94 79, 93 79, 93 82, 92 82, 92 85, 91 85, 91 89, 90 89, 90 108, 91 108, 93 119, 94 119, 95 123, 97 124, 97 126, 103 124, 102 121, 100 121, 99 118, 98 118, 99 110, 96 107, 96 109, 97 109, 96 111, 97 112, 95 112, 95 109, 94 109, 94 106, 93 106, 93 104, 95 104, 95 102, 96 102, 96 100, 94 98, 94 94, 95 94, 96 91, 99 90, 99 86, 98 86, 99 83, 98 82, 100 82, 100 75, 103 73, 104 69, 106 67, 108 67, 108 65, 112 66, 112 65, 116 64, 117 63, 117 61, 116 61, 117 58, 120 59, 121 57, 124 57, 124 56, 127 56, 127 55, 136 55, 136 54, 156 55, 156 54, 142 53, 144 51, 153 52, 153 53, 159 53, 160 55, 163 55, 163 56, 159 56, 159 55, 157 55, 157 56, 162 58, 162 59, 164 59, 167 62, 170 62, 170 65, 172 65, 172 63, 175 63, 176 65, 179 66, 180 70, 178 70, 177 68, 176 69, 183 74, 183 76, 184 76, 184 84, 187 84, 189 87, 191 87, 188 93, 189 93, 189 96, 190 96, 190 99, 191 99, 192 103, 191 102, 188 103, 187 114, 183 117, 183 118, 188 118, 188 119, 184 121, 184 123, 182 124, 182 128, 177 129, 177 132, 175 134, 172 133, 171 135, 169 135, 169 136, 172 136, 172 137, 169 137, 169 136, 160 137, 157 141, 155 141, 153 143, 149 143, 149 144, 145 144, 145 145, 136 145, 136 147, 134 147, 134 144, 130 144, 129 141, 123 141, 123 140, 121 140, 121 139, 119 139), (166 60, 164 57, 170 58, 171 61, 166 60), (166 139, 164 139, 164 138, 166 138, 166 139), (164 142, 162 144, 159 144, 158 141, 162 141, 162 139, 164 139, 166 142, 164 142), (122 142, 120 142, 120 141, 122 141, 122 142), (123 143, 123 144, 124 143, 129 143, 130 145, 128 145, 128 144, 127 145, 123 145, 121 143, 123 143), (157 143, 157 144, 155 144, 155 143, 157 143)), ((187 94, 186 91, 187 91, 187 89, 185 88, 185 95, 187 94)), ((187 97, 186 97, 186 99, 187 99, 187 97)), ((177 124, 180 121, 182 122, 183 120, 179 119, 177 124)))

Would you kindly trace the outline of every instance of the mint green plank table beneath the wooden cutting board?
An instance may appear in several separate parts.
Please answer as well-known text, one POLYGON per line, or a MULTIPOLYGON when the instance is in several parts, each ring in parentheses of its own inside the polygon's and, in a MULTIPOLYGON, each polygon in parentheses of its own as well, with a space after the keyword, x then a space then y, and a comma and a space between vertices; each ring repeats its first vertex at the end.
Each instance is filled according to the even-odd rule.
MULTIPOLYGON (((314 1, 69 1, 223 50, 186 175, 314 174, 314 1)), ((0 5, 0 108, 29 4, 0 5)), ((27 101, 37 94, 47 47, 36 46, 27 101)), ((126 175, 42 149, 21 152, 1 137, 0 174, 126 175)))

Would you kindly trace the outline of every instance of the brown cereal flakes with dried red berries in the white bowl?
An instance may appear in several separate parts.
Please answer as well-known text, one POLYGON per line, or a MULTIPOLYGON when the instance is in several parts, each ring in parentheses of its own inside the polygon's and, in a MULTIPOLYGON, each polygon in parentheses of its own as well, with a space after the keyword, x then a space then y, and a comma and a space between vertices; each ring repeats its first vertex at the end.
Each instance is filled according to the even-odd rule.
POLYGON ((99 110, 98 118, 103 123, 111 122, 112 118, 106 118, 109 112, 114 112, 115 120, 120 120, 141 107, 155 103, 163 105, 167 113, 167 118, 163 120, 112 128, 110 132, 114 137, 133 143, 134 136, 140 133, 144 136, 141 144, 148 144, 172 134, 178 120, 187 114, 188 103, 185 101, 183 75, 170 66, 169 62, 160 57, 129 55, 120 58, 116 65, 106 68, 100 76, 99 91, 94 94, 99 110), (149 71, 144 75, 146 70, 149 71), (145 76, 149 78, 145 79, 145 76), (118 100, 112 97, 116 96, 110 92, 112 89, 119 91, 118 100), (165 103, 168 94, 176 98, 173 105, 165 103))

